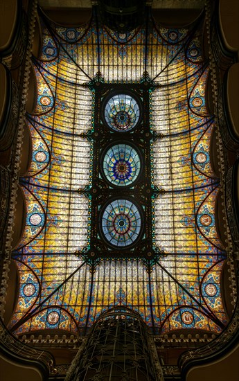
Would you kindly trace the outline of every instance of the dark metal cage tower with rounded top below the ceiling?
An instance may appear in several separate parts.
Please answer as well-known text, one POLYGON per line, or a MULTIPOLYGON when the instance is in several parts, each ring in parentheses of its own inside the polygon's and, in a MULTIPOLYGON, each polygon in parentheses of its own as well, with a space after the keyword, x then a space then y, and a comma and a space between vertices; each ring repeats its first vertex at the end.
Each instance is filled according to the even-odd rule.
POLYGON ((163 380, 153 345, 139 314, 122 306, 112 308, 92 327, 67 380, 163 380))

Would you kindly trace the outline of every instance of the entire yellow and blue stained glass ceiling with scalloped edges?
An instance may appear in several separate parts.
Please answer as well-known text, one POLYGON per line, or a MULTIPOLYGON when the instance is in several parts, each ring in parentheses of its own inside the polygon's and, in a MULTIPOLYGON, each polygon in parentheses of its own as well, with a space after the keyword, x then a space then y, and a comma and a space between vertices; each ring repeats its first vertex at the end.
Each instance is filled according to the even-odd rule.
POLYGON ((63 28, 40 16, 37 104, 27 116, 32 157, 20 180, 26 226, 13 254, 19 295, 10 329, 85 335, 100 313, 125 305, 155 334, 220 333, 227 324, 220 292, 225 255, 215 229, 219 179, 210 163, 203 20, 166 29, 149 17, 118 35, 96 17, 63 28), (107 94, 115 90, 124 108, 112 127, 122 97, 107 94), (130 107, 133 127, 125 134, 130 107), (126 175, 132 183, 119 184, 127 168, 135 171, 126 175), (130 249, 120 251, 126 254, 112 254, 119 246, 112 227, 116 242, 130 232, 130 249), (92 254, 93 239, 102 255, 92 254), (142 254, 145 240, 152 258, 142 254))

